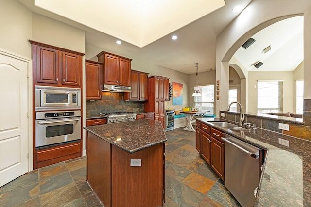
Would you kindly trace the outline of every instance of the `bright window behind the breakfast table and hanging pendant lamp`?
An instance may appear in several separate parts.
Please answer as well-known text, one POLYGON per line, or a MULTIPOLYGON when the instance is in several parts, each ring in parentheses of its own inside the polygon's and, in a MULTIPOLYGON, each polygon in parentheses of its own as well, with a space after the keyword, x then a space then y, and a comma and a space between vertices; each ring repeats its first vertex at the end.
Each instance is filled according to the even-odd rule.
MULTIPOLYGON (((193 87, 197 89, 197 87, 193 87)), ((193 96, 194 108, 199 111, 206 111, 208 114, 214 113, 214 85, 198 86, 201 96, 193 96)))

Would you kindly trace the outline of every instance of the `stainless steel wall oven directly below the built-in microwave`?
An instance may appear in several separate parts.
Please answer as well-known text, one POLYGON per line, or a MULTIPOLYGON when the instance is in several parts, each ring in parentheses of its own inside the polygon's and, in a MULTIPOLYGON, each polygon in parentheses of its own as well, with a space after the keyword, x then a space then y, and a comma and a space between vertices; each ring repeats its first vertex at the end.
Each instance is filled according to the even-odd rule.
POLYGON ((79 110, 37 112, 35 118, 35 147, 81 139, 81 112, 79 110))

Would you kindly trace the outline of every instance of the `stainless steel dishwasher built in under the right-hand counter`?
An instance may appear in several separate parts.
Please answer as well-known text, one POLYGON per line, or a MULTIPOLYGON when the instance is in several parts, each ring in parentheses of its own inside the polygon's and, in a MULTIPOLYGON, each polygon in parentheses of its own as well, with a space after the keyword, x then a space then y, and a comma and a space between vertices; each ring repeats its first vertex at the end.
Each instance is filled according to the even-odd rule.
POLYGON ((242 207, 253 207, 263 150, 225 134, 225 187, 242 207))

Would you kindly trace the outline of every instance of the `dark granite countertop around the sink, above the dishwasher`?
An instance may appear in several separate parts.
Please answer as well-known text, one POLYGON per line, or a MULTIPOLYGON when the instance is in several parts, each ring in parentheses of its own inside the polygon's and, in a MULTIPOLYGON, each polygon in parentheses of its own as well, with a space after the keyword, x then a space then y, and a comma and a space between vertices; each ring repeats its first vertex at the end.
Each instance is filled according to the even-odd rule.
POLYGON ((221 118, 196 118, 231 136, 267 150, 255 207, 311 206, 311 142, 261 128, 230 130, 209 121, 221 118), (289 147, 279 144, 289 141, 289 147))

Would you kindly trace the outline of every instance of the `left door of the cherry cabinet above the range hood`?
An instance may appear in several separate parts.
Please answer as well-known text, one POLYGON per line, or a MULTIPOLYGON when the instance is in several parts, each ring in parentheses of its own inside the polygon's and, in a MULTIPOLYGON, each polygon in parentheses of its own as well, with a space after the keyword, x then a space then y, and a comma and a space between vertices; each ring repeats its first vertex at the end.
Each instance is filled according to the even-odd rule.
POLYGON ((119 85, 119 58, 104 54, 104 84, 119 85))

